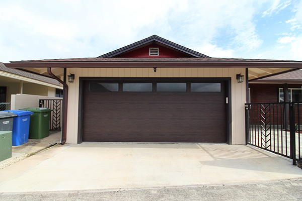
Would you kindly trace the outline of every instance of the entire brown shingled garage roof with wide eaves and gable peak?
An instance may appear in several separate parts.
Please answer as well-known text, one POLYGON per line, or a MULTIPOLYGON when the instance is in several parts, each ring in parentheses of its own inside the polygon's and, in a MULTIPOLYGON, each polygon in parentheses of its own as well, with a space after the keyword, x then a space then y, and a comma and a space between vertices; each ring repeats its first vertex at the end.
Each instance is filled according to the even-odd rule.
POLYGON ((45 68, 248 68, 248 78, 252 80, 266 75, 302 68, 302 61, 212 58, 153 35, 99 57, 11 61, 5 65, 9 68, 31 68, 40 73, 45 73, 45 68), (136 50, 140 50, 140 48, 155 45, 163 46, 175 52, 180 52, 184 56, 188 56, 125 56, 125 54, 133 53, 136 50))

